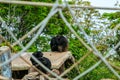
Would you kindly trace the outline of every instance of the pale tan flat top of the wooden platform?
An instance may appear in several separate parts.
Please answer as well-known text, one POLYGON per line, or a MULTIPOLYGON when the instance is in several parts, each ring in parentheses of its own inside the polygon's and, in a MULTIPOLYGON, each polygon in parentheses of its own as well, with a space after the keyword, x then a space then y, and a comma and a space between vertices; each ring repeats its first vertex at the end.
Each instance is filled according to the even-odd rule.
MULTIPOLYGON (((28 62, 30 62, 30 56, 32 52, 25 52, 21 56, 24 57, 28 62)), ((72 58, 71 52, 43 52, 43 56, 50 59, 52 63, 52 68, 59 69, 61 65, 67 60, 72 58)), ((14 55, 13 55, 14 56, 14 55)), ((31 63, 31 62, 30 62, 31 63)), ((19 70, 28 70, 30 65, 24 62, 20 57, 16 58, 12 61, 12 70, 19 71, 19 70)))

